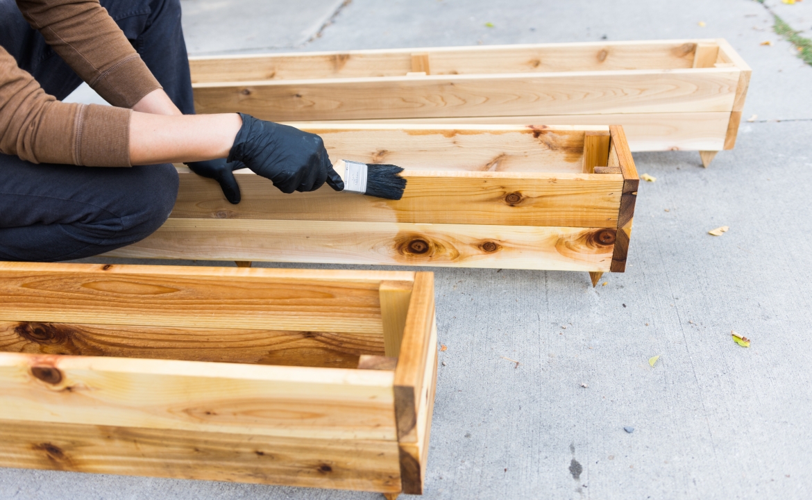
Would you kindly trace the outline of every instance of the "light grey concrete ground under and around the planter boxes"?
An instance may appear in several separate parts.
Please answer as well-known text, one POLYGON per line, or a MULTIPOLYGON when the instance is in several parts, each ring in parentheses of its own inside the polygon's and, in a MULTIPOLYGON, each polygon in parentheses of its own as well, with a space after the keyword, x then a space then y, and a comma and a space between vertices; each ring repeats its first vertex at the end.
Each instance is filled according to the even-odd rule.
MULTIPOLYGON (((424 498, 812 498, 812 67, 771 32, 766 7, 309 3, 284 25, 259 16, 229 25, 278 29, 240 41, 246 52, 726 37, 754 70, 745 117, 758 120, 711 167, 696 152, 634 155, 657 180, 637 197, 627 272, 604 275, 607 285, 593 289, 585 273, 435 270, 447 350, 424 498), (721 225, 730 231, 707 234, 721 225), (731 330, 752 346, 736 346, 731 330)), ((775 8, 809 33, 807 3, 775 8)), ((236 2, 183 4, 197 9, 185 25, 190 46, 204 47, 229 12, 207 17, 206 6, 236 2)), ((0 469, 0 498, 382 497, 0 469)))

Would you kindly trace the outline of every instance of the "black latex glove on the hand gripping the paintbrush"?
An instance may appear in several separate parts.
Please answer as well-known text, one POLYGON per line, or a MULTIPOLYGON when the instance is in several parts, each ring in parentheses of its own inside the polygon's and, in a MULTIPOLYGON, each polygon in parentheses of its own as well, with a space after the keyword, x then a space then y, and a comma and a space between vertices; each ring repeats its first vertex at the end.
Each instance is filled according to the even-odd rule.
POLYGON ((240 113, 243 126, 231 146, 229 162, 242 162, 283 193, 314 191, 327 182, 336 191, 343 180, 330 163, 322 137, 298 128, 257 120, 240 113))

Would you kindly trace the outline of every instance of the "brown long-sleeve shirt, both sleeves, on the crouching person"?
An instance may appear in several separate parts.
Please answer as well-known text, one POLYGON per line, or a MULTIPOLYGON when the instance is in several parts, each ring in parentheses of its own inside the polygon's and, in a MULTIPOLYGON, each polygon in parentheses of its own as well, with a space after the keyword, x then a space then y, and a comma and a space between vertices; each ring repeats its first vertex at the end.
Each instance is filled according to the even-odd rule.
POLYGON ((98 0, 17 0, 32 28, 113 107, 59 102, 0 47, 0 152, 32 163, 130 165, 127 108, 160 89, 98 0))

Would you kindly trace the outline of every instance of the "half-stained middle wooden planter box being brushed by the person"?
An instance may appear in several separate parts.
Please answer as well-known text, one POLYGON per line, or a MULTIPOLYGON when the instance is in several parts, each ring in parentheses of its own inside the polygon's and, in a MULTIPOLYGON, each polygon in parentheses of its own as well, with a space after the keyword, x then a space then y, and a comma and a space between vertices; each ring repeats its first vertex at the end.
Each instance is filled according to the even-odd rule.
POLYGON ((214 180, 181 172, 166 224, 108 255, 624 271, 638 179, 621 127, 303 128, 334 162, 406 168, 404 198, 284 194, 245 169, 231 205, 214 180))

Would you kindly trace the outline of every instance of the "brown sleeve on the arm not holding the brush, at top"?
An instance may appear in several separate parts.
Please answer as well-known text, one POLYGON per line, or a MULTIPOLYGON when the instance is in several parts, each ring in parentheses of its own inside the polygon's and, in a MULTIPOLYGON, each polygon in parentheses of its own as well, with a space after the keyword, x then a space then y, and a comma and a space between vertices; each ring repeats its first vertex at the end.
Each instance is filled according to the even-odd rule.
POLYGON ((133 107, 162 88, 98 0, 16 2, 28 24, 113 106, 133 107))

